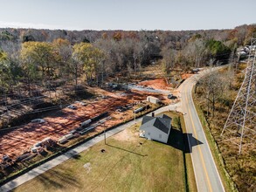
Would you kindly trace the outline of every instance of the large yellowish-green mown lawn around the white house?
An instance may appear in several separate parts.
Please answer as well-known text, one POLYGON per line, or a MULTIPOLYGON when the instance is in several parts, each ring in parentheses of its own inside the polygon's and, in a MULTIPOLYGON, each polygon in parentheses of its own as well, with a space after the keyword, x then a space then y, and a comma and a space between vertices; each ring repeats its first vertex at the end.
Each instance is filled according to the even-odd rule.
POLYGON ((14 191, 197 191, 190 154, 183 153, 183 120, 177 117, 180 132, 169 145, 139 138, 136 125, 14 191))

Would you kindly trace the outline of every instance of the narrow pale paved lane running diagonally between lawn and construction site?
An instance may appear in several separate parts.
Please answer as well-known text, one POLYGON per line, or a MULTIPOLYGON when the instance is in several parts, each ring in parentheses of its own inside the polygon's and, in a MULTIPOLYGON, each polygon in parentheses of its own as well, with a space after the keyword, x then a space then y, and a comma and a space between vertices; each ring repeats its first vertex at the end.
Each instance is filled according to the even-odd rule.
MULTIPOLYGON (((175 110, 176 106, 179 106, 179 104, 172 105, 172 106, 163 106, 162 108, 157 109, 155 111, 155 113, 157 114, 157 113, 162 113, 162 112, 165 112, 168 110, 175 110)), ((140 123, 141 121, 142 121, 142 118, 139 118, 137 120, 132 120, 125 125, 122 125, 120 127, 114 128, 110 131, 107 131, 106 137, 110 137, 114 134, 117 134, 117 133, 121 132, 122 130, 135 125, 135 123, 140 123)), ((30 181, 31 179, 35 178, 36 176, 45 173, 45 171, 47 171, 51 168, 54 168, 55 166, 59 165, 60 163, 70 159, 71 157, 73 157, 73 155, 79 154, 80 152, 86 150, 89 147, 92 147, 96 143, 103 141, 103 140, 104 140, 104 134, 100 134, 99 136, 93 138, 90 141, 87 141, 86 143, 80 145, 79 147, 75 147, 72 150, 66 152, 65 154, 59 155, 55 159, 45 162, 43 165, 39 166, 38 168, 33 168, 28 173, 21 175, 10 182, 7 182, 2 187, 0 187, 0 192, 6 192, 6 191, 10 191, 11 189, 17 188, 17 186, 23 184, 24 182, 30 181)))

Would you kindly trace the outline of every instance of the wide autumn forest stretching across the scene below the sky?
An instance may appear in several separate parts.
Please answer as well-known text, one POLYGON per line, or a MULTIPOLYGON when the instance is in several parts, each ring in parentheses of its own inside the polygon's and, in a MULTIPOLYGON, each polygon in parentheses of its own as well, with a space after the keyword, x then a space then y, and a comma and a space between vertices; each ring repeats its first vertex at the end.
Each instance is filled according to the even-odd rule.
POLYGON ((117 73, 136 77, 157 58, 170 77, 174 69, 225 64, 253 37, 255 24, 209 31, 0 29, 0 93, 54 82, 101 86, 117 73))

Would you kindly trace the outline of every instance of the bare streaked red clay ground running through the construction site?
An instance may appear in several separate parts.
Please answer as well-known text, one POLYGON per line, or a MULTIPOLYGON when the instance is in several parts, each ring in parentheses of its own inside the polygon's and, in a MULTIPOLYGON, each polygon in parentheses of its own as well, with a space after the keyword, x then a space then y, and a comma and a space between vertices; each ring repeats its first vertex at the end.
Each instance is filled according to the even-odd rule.
MULTIPOLYGON (((59 112, 53 113, 52 116, 46 117, 43 124, 28 123, 17 129, 1 132, 0 157, 3 154, 8 154, 11 159, 15 160, 17 156, 23 154, 24 151, 28 150, 38 141, 42 141, 46 137, 58 140, 61 136, 79 127, 80 122, 84 120, 104 112, 114 116, 116 106, 125 106, 135 101, 145 100, 148 95, 161 96, 159 94, 139 92, 125 94, 124 96, 121 96, 120 93, 109 93, 108 95, 111 95, 111 97, 87 102, 86 106, 74 104, 78 107, 77 110, 64 108, 59 112)), ((123 116, 125 113, 120 113, 119 115, 123 116)), ((94 131, 98 132, 103 128, 112 127, 121 122, 121 119, 113 118, 96 127, 94 131)))

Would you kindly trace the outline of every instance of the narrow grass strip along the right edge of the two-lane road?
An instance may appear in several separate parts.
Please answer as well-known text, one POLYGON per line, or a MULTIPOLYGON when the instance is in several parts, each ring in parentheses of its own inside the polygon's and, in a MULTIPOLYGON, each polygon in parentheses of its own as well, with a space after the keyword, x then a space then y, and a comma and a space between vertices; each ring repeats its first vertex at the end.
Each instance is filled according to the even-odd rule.
POLYGON ((231 176, 228 174, 228 172, 225 169, 225 163, 222 158, 221 153, 219 152, 218 145, 216 141, 214 140, 211 130, 209 128, 207 120, 205 120, 204 113, 201 110, 200 106, 197 104, 197 99, 195 96, 195 93, 193 91, 192 93, 193 101, 196 106, 198 117, 202 123, 202 126, 204 128, 204 134, 206 136, 206 139, 208 141, 208 144, 211 149, 211 154, 213 156, 214 161, 216 162, 216 167, 218 168, 218 173, 221 177, 221 180, 223 182, 223 185, 225 187, 225 191, 239 191, 235 185, 235 183, 232 181, 231 176))

